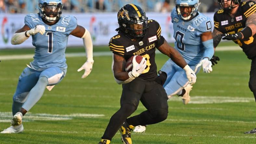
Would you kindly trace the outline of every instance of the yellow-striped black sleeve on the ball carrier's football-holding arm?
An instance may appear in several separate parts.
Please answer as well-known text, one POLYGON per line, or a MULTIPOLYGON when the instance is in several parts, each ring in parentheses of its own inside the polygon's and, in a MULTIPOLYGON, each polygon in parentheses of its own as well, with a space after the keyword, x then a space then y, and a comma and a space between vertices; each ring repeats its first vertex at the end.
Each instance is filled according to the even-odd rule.
POLYGON ((109 50, 114 54, 124 57, 124 46, 120 44, 120 42, 114 40, 113 38, 109 41, 109 50))

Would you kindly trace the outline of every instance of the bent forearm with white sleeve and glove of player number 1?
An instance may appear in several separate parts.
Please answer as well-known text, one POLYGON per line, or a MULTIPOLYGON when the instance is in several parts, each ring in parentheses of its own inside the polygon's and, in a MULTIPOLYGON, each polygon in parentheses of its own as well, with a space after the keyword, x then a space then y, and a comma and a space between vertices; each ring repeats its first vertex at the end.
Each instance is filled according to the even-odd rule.
POLYGON ((35 28, 30 29, 27 25, 24 25, 21 29, 17 30, 15 34, 13 34, 11 43, 14 45, 21 44, 31 35, 34 35, 38 32, 43 35, 45 33, 45 26, 37 25, 35 28))

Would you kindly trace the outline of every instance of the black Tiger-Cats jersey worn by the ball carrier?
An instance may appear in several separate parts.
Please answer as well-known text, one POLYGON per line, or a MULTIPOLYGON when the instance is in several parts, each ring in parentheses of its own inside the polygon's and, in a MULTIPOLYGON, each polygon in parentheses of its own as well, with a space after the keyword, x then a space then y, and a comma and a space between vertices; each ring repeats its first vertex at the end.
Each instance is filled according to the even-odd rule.
POLYGON ((139 78, 154 80, 157 77, 155 51, 163 42, 164 38, 161 36, 159 23, 155 20, 148 20, 148 28, 143 38, 132 41, 125 33, 120 32, 110 39, 109 49, 114 54, 124 57, 126 61, 133 55, 145 57, 147 59, 147 67, 139 78))

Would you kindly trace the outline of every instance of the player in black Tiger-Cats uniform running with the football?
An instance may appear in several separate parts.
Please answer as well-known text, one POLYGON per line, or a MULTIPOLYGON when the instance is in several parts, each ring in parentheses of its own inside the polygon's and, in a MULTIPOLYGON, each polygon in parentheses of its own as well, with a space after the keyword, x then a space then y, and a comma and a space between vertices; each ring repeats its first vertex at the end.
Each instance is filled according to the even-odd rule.
POLYGON ((134 4, 123 6, 118 12, 118 34, 110 39, 113 52, 112 71, 117 83, 122 84, 121 108, 110 118, 99 144, 109 144, 117 130, 124 144, 132 144, 131 129, 138 125, 159 123, 167 118, 167 94, 162 87, 166 80, 163 72, 157 76, 156 48, 186 71, 191 84, 195 83, 194 71, 178 51, 161 36, 161 27, 155 20, 148 20, 145 12, 134 4), (143 56, 137 64, 134 55, 143 56), (126 61, 134 56, 133 69, 125 71, 126 61), (139 115, 127 118, 137 109, 139 101, 147 108, 139 115))

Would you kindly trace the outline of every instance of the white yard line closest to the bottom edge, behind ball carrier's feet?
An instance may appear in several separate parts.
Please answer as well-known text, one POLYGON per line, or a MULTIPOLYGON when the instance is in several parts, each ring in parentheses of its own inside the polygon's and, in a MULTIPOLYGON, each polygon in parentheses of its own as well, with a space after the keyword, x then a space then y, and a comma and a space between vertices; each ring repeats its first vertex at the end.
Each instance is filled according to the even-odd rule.
MULTIPOLYGON (((52 131, 52 130, 34 130, 25 129, 25 131, 45 132, 45 133, 68 133, 68 134, 102 134, 102 132, 78 132, 78 131, 52 131)), ((133 133, 133 135, 147 135, 147 136, 178 136, 178 137, 214 137, 214 138, 254 138, 256 136, 218 136, 218 135, 184 135, 184 134, 153 134, 153 133, 133 133)))

